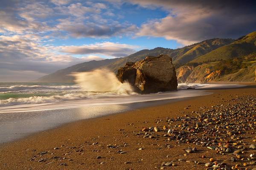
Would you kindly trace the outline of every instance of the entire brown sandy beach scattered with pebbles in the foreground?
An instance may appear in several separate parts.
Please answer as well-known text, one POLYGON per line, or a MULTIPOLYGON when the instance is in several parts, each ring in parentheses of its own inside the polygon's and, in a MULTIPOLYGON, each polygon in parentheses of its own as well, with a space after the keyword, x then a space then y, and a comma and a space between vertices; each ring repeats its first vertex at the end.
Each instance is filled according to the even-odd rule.
MULTIPOLYGON (((221 166, 227 164, 230 169, 236 164, 239 164, 237 169, 241 170, 255 168, 255 160, 247 158, 250 158, 250 154, 255 154, 256 152, 249 148, 250 144, 256 144, 256 113, 254 112, 256 88, 207 91, 212 92, 212 94, 125 113, 72 122, 52 130, 33 134, 15 142, 2 144, 0 145, 0 169, 198 170, 206 169, 205 164, 209 162, 210 158, 214 159, 212 164, 216 163, 214 161, 218 161, 217 163, 222 163, 221 166), (209 142, 211 144, 209 146, 218 146, 220 145, 218 143, 229 144, 230 146, 228 147, 232 150, 230 153, 221 154, 215 149, 211 150, 207 146, 202 146, 202 143, 196 144, 196 142, 193 143, 189 140, 177 142, 176 138, 169 140, 172 137, 165 136, 168 129, 182 127, 184 124, 188 124, 186 127, 191 127, 192 123, 198 121, 194 120, 194 118, 209 109, 215 108, 218 110, 218 108, 236 104, 244 105, 246 101, 251 102, 250 106, 244 106, 244 109, 250 109, 247 113, 249 112, 252 115, 250 119, 244 118, 244 120, 250 120, 250 122, 246 122, 246 125, 250 124, 250 128, 248 126, 243 129, 242 126, 236 126, 236 128, 241 129, 238 131, 232 126, 232 123, 227 125, 230 126, 229 128, 237 130, 237 133, 234 132, 234 134, 237 135, 238 139, 232 140, 227 135, 227 138, 221 141, 221 139, 216 138, 218 135, 212 135, 218 132, 207 129, 208 133, 205 133, 205 130, 200 131, 200 128, 199 130, 196 129, 198 134, 195 131, 195 133, 186 136, 186 139, 189 140, 195 140, 194 138, 197 135, 202 136, 202 134, 203 136, 210 136, 209 142), (177 117, 180 117, 180 119, 177 119, 177 117), (183 120, 186 118, 188 120, 183 120), (166 130, 163 130, 164 126, 166 126, 166 130), (158 131, 148 130, 149 127, 157 127, 158 131), (146 128, 146 132, 143 128, 146 128), (154 136, 154 138, 143 137, 147 133, 154 136), (239 145, 244 146, 244 151, 241 151, 244 159, 236 158, 236 162, 230 161, 231 157, 237 156, 232 153, 239 145), (189 147, 191 147, 192 151, 188 152, 186 150, 189 147)), ((215 111, 212 111, 212 113, 215 113, 215 111)), ((227 122, 236 123, 236 121, 239 121, 239 119, 227 119, 227 122)), ((203 120, 202 122, 207 128, 218 128, 218 122, 216 123, 217 125, 209 124, 209 122, 205 124, 203 120)), ((193 126, 195 125, 193 124, 193 126)), ((186 128, 181 131, 186 131, 186 128)), ((191 132, 190 130, 189 133, 191 132)), ((255 158, 254 155, 251 157, 255 158)))

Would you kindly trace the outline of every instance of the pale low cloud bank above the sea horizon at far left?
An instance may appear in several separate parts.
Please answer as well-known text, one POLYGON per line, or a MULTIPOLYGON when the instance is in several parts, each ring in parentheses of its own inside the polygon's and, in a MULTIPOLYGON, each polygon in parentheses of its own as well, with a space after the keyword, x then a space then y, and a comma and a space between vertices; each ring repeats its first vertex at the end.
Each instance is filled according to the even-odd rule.
MULTIPOLYGON (((42 74, 49 74, 70 65, 102 59, 96 55, 77 58, 68 54, 58 54, 58 51, 54 51, 54 46, 42 46, 36 43, 36 40, 37 37, 34 35, 0 36, 0 68, 3 70, 0 77, 5 77, 4 74, 7 72, 15 71, 27 74, 28 77, 32 73, 41 77, 42 74)), ((7 78, 1 81, 7 81, 7 78)))

